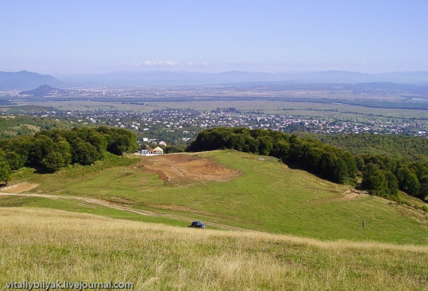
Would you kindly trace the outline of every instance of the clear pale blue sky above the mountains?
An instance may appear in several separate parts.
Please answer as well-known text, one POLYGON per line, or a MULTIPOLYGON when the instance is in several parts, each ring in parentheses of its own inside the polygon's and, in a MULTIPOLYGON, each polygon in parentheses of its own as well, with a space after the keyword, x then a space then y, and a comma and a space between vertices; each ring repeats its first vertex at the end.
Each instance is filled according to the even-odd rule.
POLYGON ((428 71, 428 0, 0 0, 0 71, 428 71))

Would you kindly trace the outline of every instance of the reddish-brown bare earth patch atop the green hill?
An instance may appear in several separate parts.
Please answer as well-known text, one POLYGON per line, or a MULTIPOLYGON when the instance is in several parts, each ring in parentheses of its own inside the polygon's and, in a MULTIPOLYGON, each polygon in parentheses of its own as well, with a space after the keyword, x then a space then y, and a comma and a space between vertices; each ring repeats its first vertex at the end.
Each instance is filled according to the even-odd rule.
POLYGON ((165 182, 225 182, 241 175, 239 170, 226 168, 206 158, 185 154, 150 156, 143 160, 142 167, 149 172, 155 172, 165 182))

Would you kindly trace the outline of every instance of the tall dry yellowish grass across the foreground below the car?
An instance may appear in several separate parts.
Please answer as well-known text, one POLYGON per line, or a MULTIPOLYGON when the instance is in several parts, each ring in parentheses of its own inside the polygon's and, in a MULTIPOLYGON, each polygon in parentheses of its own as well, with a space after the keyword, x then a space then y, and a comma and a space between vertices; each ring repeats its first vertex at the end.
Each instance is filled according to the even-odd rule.
POLYGON ((0 208, 8 281, 134 283, 135 290, 427 290, 428 246, 321 242, 55 210, 0 208))

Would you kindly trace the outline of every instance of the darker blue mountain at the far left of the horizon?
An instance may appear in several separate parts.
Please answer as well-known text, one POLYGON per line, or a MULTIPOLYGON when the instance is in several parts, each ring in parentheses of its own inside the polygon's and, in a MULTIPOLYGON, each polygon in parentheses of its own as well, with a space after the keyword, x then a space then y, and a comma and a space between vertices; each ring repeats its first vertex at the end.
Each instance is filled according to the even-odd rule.
POLYGON ((48 84, 50 86, 62 86, 58 79, 50 75, 21 72, 0 72, 0 90, 28 90, 48 84))

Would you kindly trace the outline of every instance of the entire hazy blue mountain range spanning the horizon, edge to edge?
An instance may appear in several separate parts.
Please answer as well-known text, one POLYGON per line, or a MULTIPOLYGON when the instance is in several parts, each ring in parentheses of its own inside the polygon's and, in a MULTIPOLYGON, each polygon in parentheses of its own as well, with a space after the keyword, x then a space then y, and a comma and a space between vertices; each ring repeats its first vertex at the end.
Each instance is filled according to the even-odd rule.
MULTIPOLYGON (((0 72, 0 90, 29 90, 47 84, 52 87, 86 86, 147 86, 147 85, 201 85, 232 83, 276 82, 281 85, 323 83, 401 83, 417 86, 428 85, 428 72, 392 72, 363 74, 347 71, 309 73, 253 73, 253 72, 113 72, 109 74, 50 75, 21 72, 0 72)), ((382 85, 387 86, 387 85, 382 85)))

